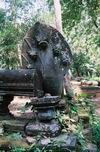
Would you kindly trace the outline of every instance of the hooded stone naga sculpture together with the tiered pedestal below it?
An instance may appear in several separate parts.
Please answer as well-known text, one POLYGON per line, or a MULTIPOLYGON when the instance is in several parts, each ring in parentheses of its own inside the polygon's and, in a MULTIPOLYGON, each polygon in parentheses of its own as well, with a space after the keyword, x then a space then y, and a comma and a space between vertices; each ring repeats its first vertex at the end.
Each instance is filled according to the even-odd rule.
POLYGON ((50 128, 50 136, 60 133, 61 126, 55 120, 55 107, 61 100, 59 97, 63 94, 63 78, 71 59, 72 54, 67 42, 53 27, 38 22, 27 32, 22 44, 22 67, 36 69, 41 76, 44 96, 33 98, 30 103, 33 109, 37 109, 38 122, 27 124, 26 134, 44 132, 48 135, 50 128), (45 96, 47 93, 49 95, 45 96))

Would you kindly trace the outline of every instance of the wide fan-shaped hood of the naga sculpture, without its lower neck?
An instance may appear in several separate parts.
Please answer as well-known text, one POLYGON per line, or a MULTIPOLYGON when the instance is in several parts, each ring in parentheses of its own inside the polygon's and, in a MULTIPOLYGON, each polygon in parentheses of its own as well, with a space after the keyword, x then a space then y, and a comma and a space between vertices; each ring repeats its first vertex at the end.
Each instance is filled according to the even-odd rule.
MULTIPOLYGON (((43 66, 47 68, 50 66, 50 63, 51 65, 55 65, 54 62, 56 63, 57 60, 60 66, 66 65, 68 67, 70 65, 72 54, 69 45, 56 29, 37 22, 24 37, 22 44, 22 66, 25 68, 39 67, 41 72, 45 72, 42 71, 43 66), (49 63, 49 65, 46 63, 49 63)), ((51 70, 54 69, 53 67, 49 68, 51 70)))

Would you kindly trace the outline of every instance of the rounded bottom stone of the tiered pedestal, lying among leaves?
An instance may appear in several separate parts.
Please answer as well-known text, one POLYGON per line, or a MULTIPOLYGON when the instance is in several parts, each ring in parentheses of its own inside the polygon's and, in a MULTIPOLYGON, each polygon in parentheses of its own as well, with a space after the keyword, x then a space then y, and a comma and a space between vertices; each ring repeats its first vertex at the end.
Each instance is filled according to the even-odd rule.
POLYGON ((61 126, 58 121, 52 120, 49 123, 43 122, 31 122, 25 128, 25 133, 28 136, 35 135, 47 135, 47 136, 57 136, 61 132, 61 126))

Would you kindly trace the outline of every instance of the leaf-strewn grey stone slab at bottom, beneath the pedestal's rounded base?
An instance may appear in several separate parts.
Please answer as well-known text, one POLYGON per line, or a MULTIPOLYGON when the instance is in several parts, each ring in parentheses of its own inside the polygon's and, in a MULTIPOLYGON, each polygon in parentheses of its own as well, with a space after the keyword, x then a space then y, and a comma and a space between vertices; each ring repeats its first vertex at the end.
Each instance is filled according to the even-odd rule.
POLYGON ((30 144, 34 144, 36 146, 40 146, 42 148, 46 148, 47 151, 55 151, 55 152, 77 152, 77 137, 74 134, 63 133, 57 137, 43 137, 38 141, 37 137, 27 136, 26 140, 30 144))

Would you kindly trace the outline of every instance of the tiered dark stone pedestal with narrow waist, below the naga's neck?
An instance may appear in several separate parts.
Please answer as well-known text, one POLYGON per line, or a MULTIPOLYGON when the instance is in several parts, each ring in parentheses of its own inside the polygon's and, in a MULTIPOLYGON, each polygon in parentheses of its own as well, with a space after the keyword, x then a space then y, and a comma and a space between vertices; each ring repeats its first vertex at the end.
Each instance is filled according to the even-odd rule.
POLYGON ((61 124, 56 120, 56 107, 60 102, 58 96, 33 98, 30 105, 35 111, 36 120, 25 127, 28 136, 45 135, 55 137, 61 132, 61 124))

